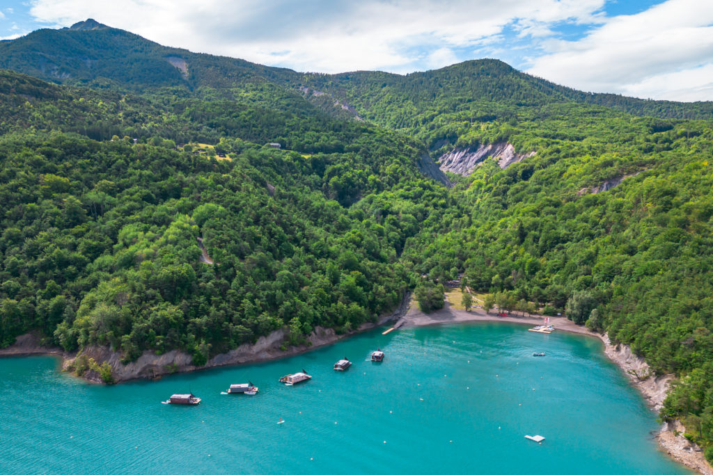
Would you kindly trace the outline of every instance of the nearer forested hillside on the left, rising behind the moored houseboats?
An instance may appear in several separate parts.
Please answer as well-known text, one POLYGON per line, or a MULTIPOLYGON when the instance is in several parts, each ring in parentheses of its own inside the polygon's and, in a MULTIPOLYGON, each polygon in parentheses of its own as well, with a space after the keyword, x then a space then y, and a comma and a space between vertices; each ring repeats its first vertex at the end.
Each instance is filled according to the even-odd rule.
MULTIPOLYGON (((198 134, 203 116, 172 117, 138 143, 96 141, 76 121, 125 132, 121 118, 139 108, 2 79, 3 345, 39 328, 67 350, 111 345, 132 360, 181 348, 200 364, 282 325, 295 343, 316 325, 356 328, 401 301, 412 285, 398 261, 404 241, 448 207, 417 172, 418 150, 375 127, 319 116, 339 152, 301 155, 223 125, 215 142, 230 160, 215 160, 156 140, 177 122, 198 134), (200 263, 199 237, 214 265, 200 263)), ((159 112, 143 108, 148 121, 159 112)), ((284 136, 309 134, 309 120, 249 112, 284 136)))

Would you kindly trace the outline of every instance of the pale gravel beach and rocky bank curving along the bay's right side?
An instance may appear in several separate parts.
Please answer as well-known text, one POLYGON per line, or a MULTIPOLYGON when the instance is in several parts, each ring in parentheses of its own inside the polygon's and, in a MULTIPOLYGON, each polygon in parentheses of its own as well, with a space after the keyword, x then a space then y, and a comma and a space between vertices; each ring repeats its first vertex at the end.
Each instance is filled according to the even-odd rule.
MULTIPOLYGON (((443 308, 432 313, 423 313, 416 305, 412 305, 408 312, 406 312, 406 315, 404 315, 396 325, 398 325, 399 328, 413 328, 468 322, 543 325, 545 323, 545 317, 525 317, 524 315, 498 317, 486 313, 481 308, 460 310, 454 308, 451 303, 446 300, 446 304, 443 308)), ((607 358, 625 373, 630 383, 637 389, 639 394, 642 395, 647 406, 658 414, 663 406, 670 382, 674 379, 674 375, 656 376, 652 370, 650 370, 644 358, 635 355, 628 345, 613 344, 607 334, 602 335, 583 325, 577 325, 566 317, 550 317, 550 324, 555 326, 555 331, 576 333, 600 340, 604 345, 603 351, 607 358)), ((683 424, 679 420, 675 420, 662 424, 662 427, 656 432, 655 437, 660 449, 665 451, 672 459, 679 462, 679 464, 683 464, 700 474, 713 475, 713 467, 705 459, 700 447, 683 437, 682 434, 684 434, 684 432, 685 428, 683 424)))

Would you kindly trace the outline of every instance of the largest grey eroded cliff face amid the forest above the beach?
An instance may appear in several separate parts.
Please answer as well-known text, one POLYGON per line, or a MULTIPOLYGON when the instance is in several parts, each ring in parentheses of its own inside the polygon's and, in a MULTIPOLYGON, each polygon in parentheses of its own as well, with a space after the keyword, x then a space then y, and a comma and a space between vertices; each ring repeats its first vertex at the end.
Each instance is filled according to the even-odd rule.
POLYGON ((535 152, 525 154, 515 153, 513 144, 501 142, 488 145, 478 145, 477 147, 456 147, 450 152, 441 155, 438 159, 443 172, 452 172, 467 177, 473 173, 478 165, 486 158, 493 157, 502 169, 506 169, 513 163, 520 162, 525 158, 532 157, 535 152))

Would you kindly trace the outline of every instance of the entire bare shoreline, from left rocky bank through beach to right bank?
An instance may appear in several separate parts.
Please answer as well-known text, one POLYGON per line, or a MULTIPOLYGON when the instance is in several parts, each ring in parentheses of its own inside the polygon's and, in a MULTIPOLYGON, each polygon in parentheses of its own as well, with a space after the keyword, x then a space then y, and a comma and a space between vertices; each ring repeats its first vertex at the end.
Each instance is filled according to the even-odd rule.
MULTIPOLYGON (((263 336, 254 344, 244 344, 228 353, 216 355, 211 358, 206 365, 196 367, 191 365, 192 357, 187 353, 172 350, 164 355, 155 355, 151 352, 144 354, 136 361, 123 365, 120 362, 120 354, 108 348, 92 347, 87 348, 81 354, 93 357, 97 362, 108 361, 116 373, 116 382, 126 382, 140 379, 158 379, 163 375, 178 374, 183 372, 194 372, 207 370, 214 367, 243 365, 254 362, 267 362, 279 360, 285 357, 292 357, 307 353, 317 348, 337 343, 352 335, 372 330, 385 323, 396 320, 394 328, 413 328, 428 325, 450 325, 468 322, 501 322, 516 323, 520 325, 542 325, 544 317, 540 316, 518 316, 508 315, 498 317, 486 313, 480 308, 473 308, 469 311, 453 308, 450 303, 441 310, 433 313, 423 313, 416 305, 409 305, 409 295, 404 297, 399 308, 394 313, 382 315, 374 323, 364 323, 359 329, 342 335, 337 335, 333 329, 315 328, 312 335, 307 337, 309 344, 292 346, 285 350, 280 347, 284 342, 286 333, 284 330, 276 330, 270 335, 263 336), (175 365, 175 366, 172 366, 175 365)), ((658 412, 666 397, 668 386, 673 379, 673 375, 655 376, 650 371, 648 365, 642 357, 634 355, 627 345, 614 345, 607 335, 593 332, 583 325, 576 325, 565 317, 550 317, 550 323, 555 326, 555 331, 564 331, 578 335, 586 335, 597 338, 604 346, 604 353, 617 365, 634 385, 640 395, 644 397, 650 409, 658 412)), ((27 333, 17 338, 16 343, 8 348, 0 350, 0 357, 20 357, 31 355, 53 355, 61 357, 62 370, 66 370, 78 356, 76 353, 68 353, 61 348, 43 347, 40 345, 41 339, 36 333, 27 333)), ((87 372, 82 379, 88 382, 101 383, 101 379, 96 372, 87 372)), ((672 459, 680 464, 688 466, 701 474, 713 475, 713 468, 705 460, 702 451, 685 439, 682 434, 684 427, 681 422, 673 421, 662 424, 656 433, 657 442, 660 449, 665 451, 672 459)))

